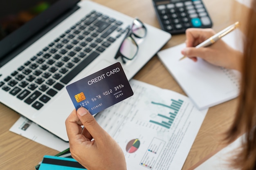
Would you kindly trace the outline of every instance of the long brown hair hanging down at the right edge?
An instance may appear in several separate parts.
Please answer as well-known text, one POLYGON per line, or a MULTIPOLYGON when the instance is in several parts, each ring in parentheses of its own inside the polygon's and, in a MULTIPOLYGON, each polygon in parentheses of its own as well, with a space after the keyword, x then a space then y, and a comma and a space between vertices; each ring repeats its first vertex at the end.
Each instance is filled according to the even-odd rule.
POLYGON ((246 132, 242 149, 232 159, 233 168, 256 168, 256 0, 252 0, 245 31, 244 58, 239 104, 234 123, 227 132, 227 140, 233 141, 246 132))

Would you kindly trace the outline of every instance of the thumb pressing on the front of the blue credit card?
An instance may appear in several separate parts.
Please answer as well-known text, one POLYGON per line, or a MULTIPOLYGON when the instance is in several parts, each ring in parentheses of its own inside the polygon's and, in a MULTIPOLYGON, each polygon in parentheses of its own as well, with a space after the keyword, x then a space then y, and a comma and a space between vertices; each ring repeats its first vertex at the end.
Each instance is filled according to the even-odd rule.
POLYGON ((106 131, 101 128, 101 126, 86 108, 81 107, 76 112, 77 117, 94 139, 99 140, 99 138, 104 136, 106 131))

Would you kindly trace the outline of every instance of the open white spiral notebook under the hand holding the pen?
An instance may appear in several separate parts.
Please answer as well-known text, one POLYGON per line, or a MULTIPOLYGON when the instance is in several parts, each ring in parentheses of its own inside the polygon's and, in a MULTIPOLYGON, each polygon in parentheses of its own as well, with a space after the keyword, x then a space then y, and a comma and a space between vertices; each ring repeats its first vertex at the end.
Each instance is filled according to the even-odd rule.
MULTIPOLYGON (((237 29, 222 40, 231 47, 243 51, 242 36, 237 29)), ((238 96, 238 71, 213 66, 200 58, 198 62, 193 62, 189 58, 179 61, 182 57, 181 50, 185 46, 183 43, 159 51, 157 55, 198 109, 209 108, 238 96)))

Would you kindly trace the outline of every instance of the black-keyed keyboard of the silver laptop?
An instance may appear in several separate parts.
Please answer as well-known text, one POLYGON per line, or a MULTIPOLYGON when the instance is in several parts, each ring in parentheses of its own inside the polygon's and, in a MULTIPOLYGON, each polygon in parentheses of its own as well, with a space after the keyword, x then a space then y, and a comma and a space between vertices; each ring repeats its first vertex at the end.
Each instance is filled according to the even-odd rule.
POLYGON ((39 110, 126 29, 92 11, 0 82, 2 90, 39 110), (110 36, 117 31, 115 37, 110 36))

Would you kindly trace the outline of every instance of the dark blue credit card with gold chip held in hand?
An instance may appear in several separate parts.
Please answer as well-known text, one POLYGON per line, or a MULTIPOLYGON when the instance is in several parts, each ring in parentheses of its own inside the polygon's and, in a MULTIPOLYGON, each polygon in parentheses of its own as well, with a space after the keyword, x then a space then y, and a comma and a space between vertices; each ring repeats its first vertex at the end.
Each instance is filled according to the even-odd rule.
POLYGON ((86 108, 92 115, 133 95, 132 88, 117 62, 66 86, 76 108, 86 108))

